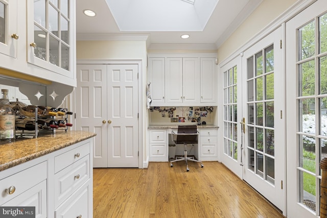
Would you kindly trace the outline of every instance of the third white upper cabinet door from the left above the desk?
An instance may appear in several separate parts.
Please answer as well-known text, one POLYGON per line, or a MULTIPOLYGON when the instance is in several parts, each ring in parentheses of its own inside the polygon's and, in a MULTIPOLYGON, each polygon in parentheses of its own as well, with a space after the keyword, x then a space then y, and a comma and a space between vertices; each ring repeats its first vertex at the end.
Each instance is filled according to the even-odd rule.
POLYGON ((199 86, 199 58, 183 58, 183 103, 199 102, 199 86))

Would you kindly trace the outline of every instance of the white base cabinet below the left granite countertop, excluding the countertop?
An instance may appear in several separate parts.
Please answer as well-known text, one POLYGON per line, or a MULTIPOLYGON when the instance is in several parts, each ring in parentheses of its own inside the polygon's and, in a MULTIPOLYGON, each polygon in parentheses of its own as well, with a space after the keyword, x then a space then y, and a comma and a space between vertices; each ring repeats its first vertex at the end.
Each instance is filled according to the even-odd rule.
POLYGON ((92 143, 89 138, 0 172, 0 206, 35 206, 37 218, 93 217, 92 143))

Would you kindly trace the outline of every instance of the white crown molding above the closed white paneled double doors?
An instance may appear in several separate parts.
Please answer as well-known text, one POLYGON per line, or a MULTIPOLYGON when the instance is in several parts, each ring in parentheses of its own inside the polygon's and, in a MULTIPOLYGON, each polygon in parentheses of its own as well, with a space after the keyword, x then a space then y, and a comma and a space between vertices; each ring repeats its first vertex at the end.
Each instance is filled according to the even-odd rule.
POLYGON ((147 41, 149 34, 136 33, 77 33, 77 41, 147 41))

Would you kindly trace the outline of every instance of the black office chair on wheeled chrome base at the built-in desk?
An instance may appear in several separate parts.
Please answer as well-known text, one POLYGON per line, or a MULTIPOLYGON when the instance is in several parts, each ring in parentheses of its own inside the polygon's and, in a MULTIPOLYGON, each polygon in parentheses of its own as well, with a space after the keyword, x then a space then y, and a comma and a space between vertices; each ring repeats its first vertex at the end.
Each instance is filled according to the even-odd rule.
POLYGON ((198 135, 196 125, 188 125, 188 126, 178 126, 177 133, 172 131, 172 140, 175 144, 184 144, 184 157, 176 157, 176 160, 170 161, 170 166, 173 167, 173 162, 185 160, 186 162, 186 171, 190 171, 188 160, 201 163, 201 167, 203 167, 202 161, 195 160, 194 157, 188 157, 188 144, 198 143, 198 135))

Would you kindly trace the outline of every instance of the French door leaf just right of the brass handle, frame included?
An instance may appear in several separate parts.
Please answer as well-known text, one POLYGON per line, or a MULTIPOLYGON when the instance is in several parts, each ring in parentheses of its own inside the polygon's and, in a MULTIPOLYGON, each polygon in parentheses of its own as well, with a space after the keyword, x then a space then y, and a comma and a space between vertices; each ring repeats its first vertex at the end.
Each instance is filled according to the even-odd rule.
POLYGON ((243 53, 241 120, 243 179, 285 212, 282 38, 278 28, 243 53))

